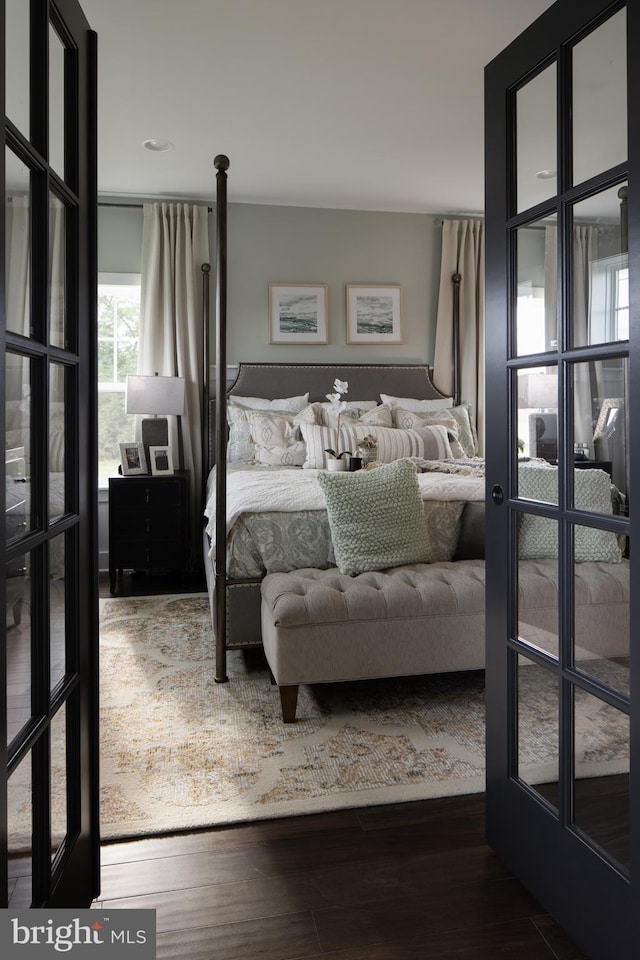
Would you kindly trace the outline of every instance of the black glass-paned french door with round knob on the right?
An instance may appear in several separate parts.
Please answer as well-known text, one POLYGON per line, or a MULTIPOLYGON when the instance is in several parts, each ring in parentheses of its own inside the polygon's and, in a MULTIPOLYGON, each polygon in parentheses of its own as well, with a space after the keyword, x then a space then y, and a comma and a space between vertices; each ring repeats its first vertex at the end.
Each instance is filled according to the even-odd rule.
POLYGON ((626 958, 640 3, 559 0, 485 80, 487 837, 589 957, 626 958))

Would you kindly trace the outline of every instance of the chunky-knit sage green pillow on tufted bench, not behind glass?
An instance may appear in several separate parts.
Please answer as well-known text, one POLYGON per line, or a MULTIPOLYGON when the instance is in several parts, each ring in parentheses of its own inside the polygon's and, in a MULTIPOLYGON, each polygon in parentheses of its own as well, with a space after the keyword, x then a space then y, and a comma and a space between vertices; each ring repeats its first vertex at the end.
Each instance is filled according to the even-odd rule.
POLYGON ((377 470, 319 473, 340 573, 355 576, 405 563, 428 563, 429 539, 415 466, 396 460, 377 470))

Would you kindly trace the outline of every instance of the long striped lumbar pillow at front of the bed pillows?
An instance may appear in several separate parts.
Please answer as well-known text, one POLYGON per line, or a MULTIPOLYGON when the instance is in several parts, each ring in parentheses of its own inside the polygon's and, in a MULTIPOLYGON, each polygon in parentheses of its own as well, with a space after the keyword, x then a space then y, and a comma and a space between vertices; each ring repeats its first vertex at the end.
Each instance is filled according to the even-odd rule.
POLYGON ((302 438, 307 445, 307 457, 303 464, 307 469, 323 470, 326 465, 327 448, 350 450, 352 453, 363 437, 375 437, 378 448, 376 460, 391 463, 403 457, 420 457, 423 460, 452 459, 447 428, 439 425, 421 427, 418 430, 398 430, 395 427, 376 427, 367 423, 345 424, 340 421, 340 437, 335 427, 301 423, 302 438))

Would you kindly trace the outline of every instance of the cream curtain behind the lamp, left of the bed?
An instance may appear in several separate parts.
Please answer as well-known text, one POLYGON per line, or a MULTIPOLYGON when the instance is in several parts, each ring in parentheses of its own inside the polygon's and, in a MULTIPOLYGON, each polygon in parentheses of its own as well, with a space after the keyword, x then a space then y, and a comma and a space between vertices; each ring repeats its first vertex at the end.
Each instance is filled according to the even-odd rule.
POLYGON ((138 373, 184 377, 182 417, 168 417, 174 466, 189 471, 191 559, 202 533, 202 264, 209 262, 206 207, 143 204, 138 373), (177 455, 176 455, 177 454, 177 455))

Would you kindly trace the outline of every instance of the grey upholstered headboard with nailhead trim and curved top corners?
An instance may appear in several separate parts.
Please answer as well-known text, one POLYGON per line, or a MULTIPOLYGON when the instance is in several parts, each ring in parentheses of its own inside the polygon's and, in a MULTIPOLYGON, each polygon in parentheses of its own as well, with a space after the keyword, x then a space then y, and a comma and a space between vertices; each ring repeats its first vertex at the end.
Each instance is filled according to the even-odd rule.
MULTIPOLYGON (((241 363, 228 396, 295 397, 309 392, 309 401, 325 400, 336 377, 349 384, 349 400, 376 400, 380 394, 431 400, 444 394, 433 385, 426 364, 382 363, 241 363)), ((215 461, 215 401, 209 403, 209 467, 215 461)))

